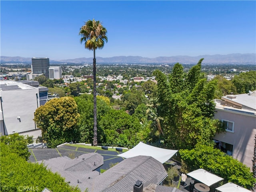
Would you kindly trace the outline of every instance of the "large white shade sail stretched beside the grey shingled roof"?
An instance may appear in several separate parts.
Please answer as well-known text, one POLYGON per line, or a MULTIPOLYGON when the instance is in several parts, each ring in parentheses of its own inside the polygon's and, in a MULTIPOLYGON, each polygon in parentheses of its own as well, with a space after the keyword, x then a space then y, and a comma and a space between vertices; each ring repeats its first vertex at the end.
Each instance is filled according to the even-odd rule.
POLYGON ((124 158, 130 158, 139 155, 151 156, 159 162, 164 163, 168 161, 172 156, 174 156, 176 152, 178 152, 178 150, 158 148, 139 142, 136 146, 134 146, 134 148, 128 150, 127 152, 119 154, 118 156, 124 158))

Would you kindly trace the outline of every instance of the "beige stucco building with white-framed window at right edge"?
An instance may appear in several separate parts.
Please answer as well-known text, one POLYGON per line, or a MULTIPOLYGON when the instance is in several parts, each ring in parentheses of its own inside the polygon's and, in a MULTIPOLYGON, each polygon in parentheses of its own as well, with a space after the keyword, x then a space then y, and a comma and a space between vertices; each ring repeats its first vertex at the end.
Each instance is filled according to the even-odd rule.
POLYGON ((216 134, 218 147, 252 170, 256 135, 256 91, 230 94, 215 100, 214 118, 221 120, 226 132, 216 134))

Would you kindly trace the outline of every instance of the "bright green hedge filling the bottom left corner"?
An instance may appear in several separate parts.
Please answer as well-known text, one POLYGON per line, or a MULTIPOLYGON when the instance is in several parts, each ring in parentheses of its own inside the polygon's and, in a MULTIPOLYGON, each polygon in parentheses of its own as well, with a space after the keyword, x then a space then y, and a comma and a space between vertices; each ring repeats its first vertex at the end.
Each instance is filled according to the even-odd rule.
POLYGON ((47 170, 43 164, 27 162, 27 139, 13 134, 0 138, 0 191, 80 192, 70 187, 59 174, 47 170))

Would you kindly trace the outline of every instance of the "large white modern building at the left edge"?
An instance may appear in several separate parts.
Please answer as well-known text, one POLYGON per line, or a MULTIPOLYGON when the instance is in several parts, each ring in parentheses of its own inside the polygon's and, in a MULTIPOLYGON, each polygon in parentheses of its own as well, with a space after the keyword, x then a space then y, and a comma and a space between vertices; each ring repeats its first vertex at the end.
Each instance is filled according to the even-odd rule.
POLYGON ((19 133, 34 138, 41 135, 36 128, 34 112, 40 106, 39 89, 15 81, 0 82, 0 133, 19 133))

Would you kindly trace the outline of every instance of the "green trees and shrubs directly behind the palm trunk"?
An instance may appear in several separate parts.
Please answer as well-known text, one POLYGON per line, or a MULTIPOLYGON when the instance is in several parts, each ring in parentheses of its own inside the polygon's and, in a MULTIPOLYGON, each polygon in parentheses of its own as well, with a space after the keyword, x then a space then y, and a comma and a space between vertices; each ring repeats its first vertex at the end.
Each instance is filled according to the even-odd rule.
MULTIPOLYGON (((92 143, 93 96, 83 94, 74 99, 80 114, 79 142, 92 143)), ((134 146, 139 141, 147 142, 150 139, 151 121, 146 117, 146 109, 145 104, 140 104, 131 116, 124 110, 113 109, 107 97, 97 96, 98 142, 126 147, 134 146)))

